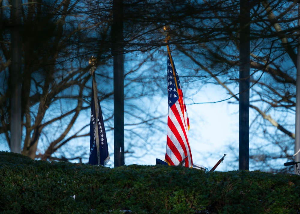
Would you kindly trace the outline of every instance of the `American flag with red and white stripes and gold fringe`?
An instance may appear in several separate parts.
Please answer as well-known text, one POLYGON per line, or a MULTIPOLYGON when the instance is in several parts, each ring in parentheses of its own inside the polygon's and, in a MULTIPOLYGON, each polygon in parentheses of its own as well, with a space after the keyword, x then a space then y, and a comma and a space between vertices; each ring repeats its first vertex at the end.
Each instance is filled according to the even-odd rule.
POLYGON ((183 165, 193 167, 192 153, 188 141, 190 122, 184 103, 179 76, 176 72, 170 47, 168 49, 168 127, 165 161, 169 165, 179 165, 187 156, 183 165))

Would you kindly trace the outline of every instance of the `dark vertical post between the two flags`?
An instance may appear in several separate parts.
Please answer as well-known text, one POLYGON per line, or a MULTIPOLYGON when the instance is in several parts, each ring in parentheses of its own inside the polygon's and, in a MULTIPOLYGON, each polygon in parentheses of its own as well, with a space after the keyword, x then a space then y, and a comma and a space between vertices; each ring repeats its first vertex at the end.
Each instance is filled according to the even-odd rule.
POLYGON ((114 164, 116 167, 125 165, 123 0, 113 0, 112 51, 114 76, 114 164))

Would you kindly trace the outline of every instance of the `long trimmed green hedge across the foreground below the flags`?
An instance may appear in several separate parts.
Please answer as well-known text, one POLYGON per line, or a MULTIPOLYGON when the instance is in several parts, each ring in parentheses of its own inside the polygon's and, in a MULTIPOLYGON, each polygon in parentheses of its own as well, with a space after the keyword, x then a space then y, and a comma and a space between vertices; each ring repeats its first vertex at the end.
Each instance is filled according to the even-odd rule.
POLYGON ((298 213, 299 185, 288 174, 112 169, 0 152, 1 213, 298 213))

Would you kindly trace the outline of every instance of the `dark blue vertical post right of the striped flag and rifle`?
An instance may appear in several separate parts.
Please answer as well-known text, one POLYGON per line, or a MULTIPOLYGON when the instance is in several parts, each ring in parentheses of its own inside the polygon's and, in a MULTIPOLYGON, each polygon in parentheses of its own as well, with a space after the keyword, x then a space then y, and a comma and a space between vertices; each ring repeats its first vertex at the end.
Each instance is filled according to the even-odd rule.
POLYGON ((240 0, 238 169, 249 170, 250 5, 240 0))

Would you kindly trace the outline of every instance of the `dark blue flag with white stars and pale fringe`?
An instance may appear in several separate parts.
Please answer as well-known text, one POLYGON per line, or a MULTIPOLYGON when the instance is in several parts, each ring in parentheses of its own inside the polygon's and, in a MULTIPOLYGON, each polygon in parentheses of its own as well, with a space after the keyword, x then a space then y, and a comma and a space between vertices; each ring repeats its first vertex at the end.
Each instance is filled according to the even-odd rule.
POLYGON ((107 164, 110 160, 107 138, 104 128, 101 106, 98 98, 97 83, 93 72, 91 96, 91 122, 90 122, 90 156, 88 163, 91 165, 107 164), (95 102, 96 101, 96 102, 95 102))

